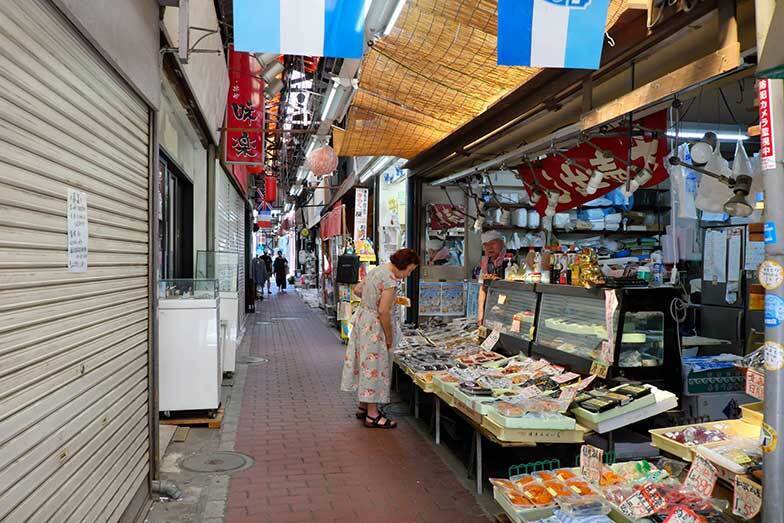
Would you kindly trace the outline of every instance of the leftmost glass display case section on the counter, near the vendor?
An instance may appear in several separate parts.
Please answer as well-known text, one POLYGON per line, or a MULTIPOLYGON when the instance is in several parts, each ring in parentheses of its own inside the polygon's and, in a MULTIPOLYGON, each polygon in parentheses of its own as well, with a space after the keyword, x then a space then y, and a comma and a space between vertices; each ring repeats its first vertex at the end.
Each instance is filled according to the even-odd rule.
POLYGON ((487 291, 485 327, 508 336, 501 341, 505 352, 528 353, 534 339, 538 295, 534 285, 498 281, 487 291))

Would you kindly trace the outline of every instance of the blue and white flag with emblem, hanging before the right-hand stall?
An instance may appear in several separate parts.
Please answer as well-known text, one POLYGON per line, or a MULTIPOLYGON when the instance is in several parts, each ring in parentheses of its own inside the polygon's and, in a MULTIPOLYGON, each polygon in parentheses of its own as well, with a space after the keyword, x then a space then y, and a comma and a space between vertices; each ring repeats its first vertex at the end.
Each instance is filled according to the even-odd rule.
POLYGON ((598 69, 610 0, 498 0, 498 65, 598 69))

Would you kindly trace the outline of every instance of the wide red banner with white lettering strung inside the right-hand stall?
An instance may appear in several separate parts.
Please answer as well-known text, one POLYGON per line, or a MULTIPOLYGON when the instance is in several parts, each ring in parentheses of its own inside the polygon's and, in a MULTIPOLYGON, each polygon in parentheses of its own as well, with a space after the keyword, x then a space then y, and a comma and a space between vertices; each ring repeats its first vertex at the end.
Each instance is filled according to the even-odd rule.
MULTIPOLYGON (((658 137, 646 133, 644 136, 632 138, 632 165, 637 169, 645 167, 651 172, 651 179, 643 187, 652 187, 666 180, 668 176, 664 167, 668 154, 667 140, 663 136, 667 114, 665 111, 661 111, 642 118, 636 123, 646 129, 660 131, 661 136, 658 137)), ((626 131, 618 130, 617 132, 626 131)), ((612 153, 612 156, 605 157, 594 147, 582 143, 565 151, 563 156, 550 155, 541 162, 533 164, 536 181, 533 180, 534 173, 531 172, 531 168, 523 164, 518 168, 518 171, 526 182, 528 193, 533 193, 537 187, 545 192, 560 193, 556 211, 561 212, 599 198, 625 183, 626 164, 618 161, 615 157, 624 162, 627 160, 629 138, 626 136, 597 137, 591 138, 590 141, 598 148, 612 153), (586 192, 588 180, 591 173, 595 171, 602 172, 604 176, 596 192, 588 194, 586 192)), ((635 170, 632 169, 632 172, 635 170)), ((547 203, 547 198, 544 197, 537 202, 536 210, 539 211, 539 214, 544 214, 547 203)))

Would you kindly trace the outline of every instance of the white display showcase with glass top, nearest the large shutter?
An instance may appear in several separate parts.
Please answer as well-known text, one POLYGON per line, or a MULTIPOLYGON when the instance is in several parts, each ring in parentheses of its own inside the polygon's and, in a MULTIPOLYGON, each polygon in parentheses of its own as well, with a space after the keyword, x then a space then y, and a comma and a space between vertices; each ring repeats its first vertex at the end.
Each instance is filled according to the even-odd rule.
POLYGON ((218 281, 161 280, 159 290, 159 410, 214 415, 223 375, 218 281))

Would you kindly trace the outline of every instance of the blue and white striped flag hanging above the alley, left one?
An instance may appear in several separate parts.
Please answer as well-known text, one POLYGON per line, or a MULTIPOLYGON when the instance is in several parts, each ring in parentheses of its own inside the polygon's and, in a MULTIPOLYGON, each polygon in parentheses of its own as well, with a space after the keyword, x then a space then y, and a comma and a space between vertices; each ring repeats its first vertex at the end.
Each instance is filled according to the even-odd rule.
POLYGON ((371 0, 234 0, 234 48, 362 58, 371 0))

